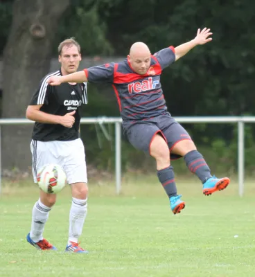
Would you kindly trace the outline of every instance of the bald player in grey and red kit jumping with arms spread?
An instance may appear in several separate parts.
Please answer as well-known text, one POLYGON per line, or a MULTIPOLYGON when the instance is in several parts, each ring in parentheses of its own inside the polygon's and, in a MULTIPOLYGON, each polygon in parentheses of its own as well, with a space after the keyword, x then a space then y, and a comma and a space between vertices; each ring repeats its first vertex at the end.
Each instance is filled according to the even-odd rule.
POLYGON ((184 207, 177 195, 175 176, 170 159, 184 157, 191 172, 202 181, 204 195, 223 190, 229 178, 212 177, 204 157, 197 151, 188 132, 170 116, 161 89, 160 75, 166 66, 179 60, 193 47, 211 42, 210 29, 198 29, 195 39, 174 48, 170 46, 154 55, 146 44, 137 42, 123 62, 93 66, 66 76, 53 76, 49 84, 62 82, 110 83, 116 93, 123 129, 130 143, 148 152, 157 162, 157 176, 170 199, 173 213, 184 207), (170 152, 170 154, 169 154, 170 152))

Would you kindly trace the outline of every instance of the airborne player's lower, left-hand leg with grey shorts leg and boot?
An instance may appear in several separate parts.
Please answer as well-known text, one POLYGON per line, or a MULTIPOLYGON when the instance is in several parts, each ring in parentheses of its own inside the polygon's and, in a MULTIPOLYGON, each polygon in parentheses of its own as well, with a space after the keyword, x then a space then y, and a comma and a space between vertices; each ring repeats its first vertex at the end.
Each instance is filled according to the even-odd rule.
POLYGON ((170 207, 174 214, 180 213, 185 203, 177 195, 175 175, 170 166, 169 150, 166 140, 157 125, 137 123, 128 127, 125 132, 128 140, 139 150, 154 157, 157 163, 157 176, 170 199, 170 207))

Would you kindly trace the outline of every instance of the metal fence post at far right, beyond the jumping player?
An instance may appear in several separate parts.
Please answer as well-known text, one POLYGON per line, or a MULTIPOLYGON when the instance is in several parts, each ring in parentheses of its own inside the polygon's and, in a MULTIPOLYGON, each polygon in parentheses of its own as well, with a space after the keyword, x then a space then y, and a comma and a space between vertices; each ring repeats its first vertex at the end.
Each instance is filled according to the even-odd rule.
POLYGON ((245 123, 238 120, 238 184, 239 195, 242 197, 245 187, 245 123))

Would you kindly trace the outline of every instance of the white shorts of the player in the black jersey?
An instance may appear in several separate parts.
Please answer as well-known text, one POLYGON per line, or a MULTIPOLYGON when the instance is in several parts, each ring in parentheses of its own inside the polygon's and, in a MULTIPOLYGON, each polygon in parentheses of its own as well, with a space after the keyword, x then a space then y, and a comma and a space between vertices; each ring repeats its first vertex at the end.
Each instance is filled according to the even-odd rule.
POLYGON ((74 141, 34 141, 30 143, 32 152, 33 178, 42 166, 57 163, 67 175, 67 183, 87 183, 85 148, 81 139, 74 141))

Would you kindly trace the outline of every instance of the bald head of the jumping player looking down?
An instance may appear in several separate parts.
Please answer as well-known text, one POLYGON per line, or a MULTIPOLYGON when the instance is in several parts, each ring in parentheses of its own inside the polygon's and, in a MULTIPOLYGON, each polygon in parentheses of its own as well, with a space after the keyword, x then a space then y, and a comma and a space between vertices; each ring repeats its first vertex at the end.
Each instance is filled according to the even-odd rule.
POLYGON ((143 42, 136 42, 130 48, 128 61, 134 72, 144 75, 150 68, 150 49, 143 42))

